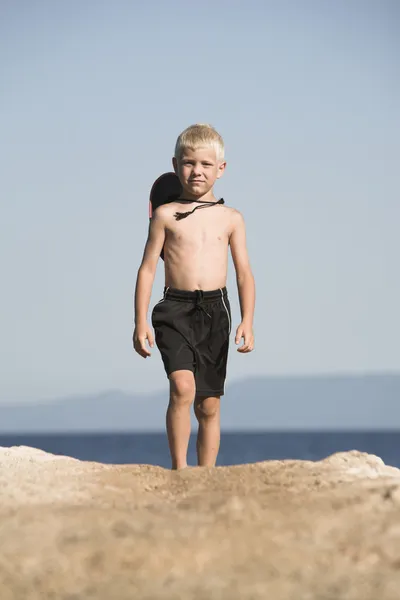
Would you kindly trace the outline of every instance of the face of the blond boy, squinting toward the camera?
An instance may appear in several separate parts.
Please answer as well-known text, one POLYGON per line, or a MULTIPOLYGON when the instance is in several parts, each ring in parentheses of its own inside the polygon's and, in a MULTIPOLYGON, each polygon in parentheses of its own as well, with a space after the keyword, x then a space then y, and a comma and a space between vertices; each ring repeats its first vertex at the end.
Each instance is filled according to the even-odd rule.
POLYGON ((222 176, 226 163, 217 160, 213 148, 185 148, 179 159, 173 159, 173 165, 186 194, 197 198, 212 189, 222 176))

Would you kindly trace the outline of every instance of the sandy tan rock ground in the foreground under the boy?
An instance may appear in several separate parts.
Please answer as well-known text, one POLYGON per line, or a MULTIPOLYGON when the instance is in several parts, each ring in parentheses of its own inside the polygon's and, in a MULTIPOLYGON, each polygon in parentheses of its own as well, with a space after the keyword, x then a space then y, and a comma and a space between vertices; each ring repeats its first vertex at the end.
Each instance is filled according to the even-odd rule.
POLYGON ((172 472, 0 448, 1 600, 398 600, 400 470, 172 472))

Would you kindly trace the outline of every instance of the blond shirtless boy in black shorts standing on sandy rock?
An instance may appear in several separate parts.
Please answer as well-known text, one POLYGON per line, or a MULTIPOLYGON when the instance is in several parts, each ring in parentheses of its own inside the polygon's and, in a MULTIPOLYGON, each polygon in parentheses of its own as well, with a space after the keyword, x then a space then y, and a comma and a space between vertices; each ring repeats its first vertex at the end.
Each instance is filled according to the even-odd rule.
POLYGON ((199 466, 214 466, 220 444, 220 397, 224 394, 231 313, 226 291, 228 247, 236 271, 242 321, 236 330, 241 353, 254 348, 255 285, 242 215, 217 201, 213 187, 225 170, 224 143, 209 125, 192 125, 176 142, 173 158, 184 202, 160 206, 135 290, 134 349, 143 358, 154 347, 147 322, 151 290, 164 248, 165 289, 152 312, 155 339, 170 384, 166 416, 172 468, 187 466, 190 408, 199 428, 199 466), (201 210, 199 210, 201 209, 201 210))

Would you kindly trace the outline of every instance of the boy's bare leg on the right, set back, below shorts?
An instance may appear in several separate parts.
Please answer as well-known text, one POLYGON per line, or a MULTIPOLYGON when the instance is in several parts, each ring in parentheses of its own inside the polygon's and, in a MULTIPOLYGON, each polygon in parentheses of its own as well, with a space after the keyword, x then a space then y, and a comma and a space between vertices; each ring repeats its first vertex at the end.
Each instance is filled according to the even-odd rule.
POLYGON ((196 396, 194 412, 199 422, 197 461, 199 467, 214 467, 220 444, 220 398, 196 396))

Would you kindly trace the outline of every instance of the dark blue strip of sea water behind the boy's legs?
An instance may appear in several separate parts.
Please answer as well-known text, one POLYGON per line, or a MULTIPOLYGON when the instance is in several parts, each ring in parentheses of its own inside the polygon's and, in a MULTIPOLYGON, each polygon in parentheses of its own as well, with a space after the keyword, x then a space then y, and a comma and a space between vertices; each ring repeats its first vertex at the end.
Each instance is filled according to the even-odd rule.
MULTIPOLYGON (((170 468, 166 434, 53 433, 0 434, 0 446, 31 446, 80 460, 110 464, 150 464, 170 468)), ((359 450, 400 468, 400 430, 222 432, 217 465, 263 460, 320 460, 335 452, 359 450)), ((191 435, 188 463, 196 464, 191 435)))

